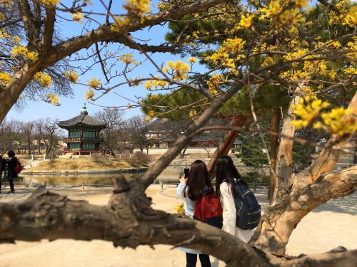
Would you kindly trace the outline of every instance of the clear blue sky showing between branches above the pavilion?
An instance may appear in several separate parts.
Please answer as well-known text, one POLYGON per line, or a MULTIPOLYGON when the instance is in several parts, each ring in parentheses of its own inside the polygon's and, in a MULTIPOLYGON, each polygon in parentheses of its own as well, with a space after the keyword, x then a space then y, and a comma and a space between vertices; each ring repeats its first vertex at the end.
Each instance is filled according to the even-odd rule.
MULTIPOLYGON (((96 12, 100 12, 100 10, 98 9, 99 4, 96 4, 96 6, 89 6, 89 9, 94 9, 94 7, 96 8, 96 12)), ((69 18, 69 15, 67 14, 66 17, 69 18)), ((59 19, 57 19, 57 21, 59 21, 59 19)), ((71 38, 73 36, 78 36, 81 33, 82 28, 84 26, 84 24, 74 23, 74 22, 61 21, 60 23, 61 23, 62 36, 64 36, 64 38, 66 37, 71 38)), ((97 28, 97 24, 96 25, 92 24, 92 26, 89 26, 89 28, 97 28)), ((141 40, 148 41, 148 44, 151 45, 159 44, 161 42, 164 42, 164 34, 166 33, 166 31, 168 31, 166 26, 162 26, 162 27, 156 26, 155 28, 151 28, 150 31, 148 29, 144 29, 142 31, 132 33, 132 36, 134 38, 136 37, 136 38, 140 38, 141 40)), ((86 51, 84 50, 81 52, 85 53, 86 51)), ((140 57, 140 56, 137 55, 136 53, 136 57, 140 57)), ((141 58, 143 57, 144 55, 141 55, 141 58)), ((178 59, 181 59, 180 56, 172 56, 170 54, 164 54, 164 53, 156 53, 153 55, 152 58, 154 58, 154 61, 159 66, 161 66, 162 63, 166 63, 167 61, 176 61, 178 59)), ((85 64, 85 63, 81 61, 81 64, 85 64)), ((121 66, 118 65, 118 72, 121 72, 121 70, 122 70, 122 65, 121 66)), ((154 66, 151 63, 149 63, 149 61, 147 61, 146 63, 143 64, 143 66, 140 66, 137 70, 135 70, 132 73, 131 77, 135 78, 136 75, 139 75, 144 78, 144 77, 149 77, 150 74, 157 75, 158 73, 156 68, 154 68, 154 66)), ((105 80, 104 75, 102 74, 101 69, 99 68, 99 65, 96 65, 93 68, 93 70, 89 71, 89 73, 86 73, 86 75, 81 76, 80 83, 86 83, 86 81, 89 80, 89 78, 94 78, 94 77, 100 78, 102 82, 104 82, 105 80)), ((119 83, 121 81, 123 81, 122 78, 116 79, 110 84, 104 86, 108 86, 108 87, 114 86, 116 85, 116 83, 119 83)), ((59 101, 61 103, 60 106, 54 106, 49 103, 38 101, 38 102, 26 103, 25 108, 21 111, 12 108, 10 112, 6 115, 6 120, 11 120, 13 118, 16 120, 21 120, 26 122, 31 120, 44 119, 46 117, 51 117, 52 119, 59 119, 59 120, 68 120, 71 117, 79 115, 84 103, 86 103, 86 107, 89 112, 89 115, 92 115, 96 111, 103 110, 103 108, 100 106, 122 106, 122 105, 126 106, 129 104, 129 100, 120 98, 119 96, 115 95, 114 92, 123 95, 125 98, 129 98, 133 100, 136 100, 134 96, 145 96, 147 93, 149 93, 147 90, 144 89, 143 85, 139 85, 136 88, 129 88, 128 86, 124 86, 114 90, 113 92, 109 93, 103 98, 96 100, 95 104, 99 105, 96 106, 86 102, 84 98, 84 92, 87 89, 88 88, 84 85, 78 85, 78 84, 73 85, 75 97, 73 99, 60 98, 59 101)), ((130 110, 125 110, 124 112, 125 112, 124 116, 126 118, 133 117, 134 115, 141 115, 141 111, 139 108, 132 108, 130 110)))

